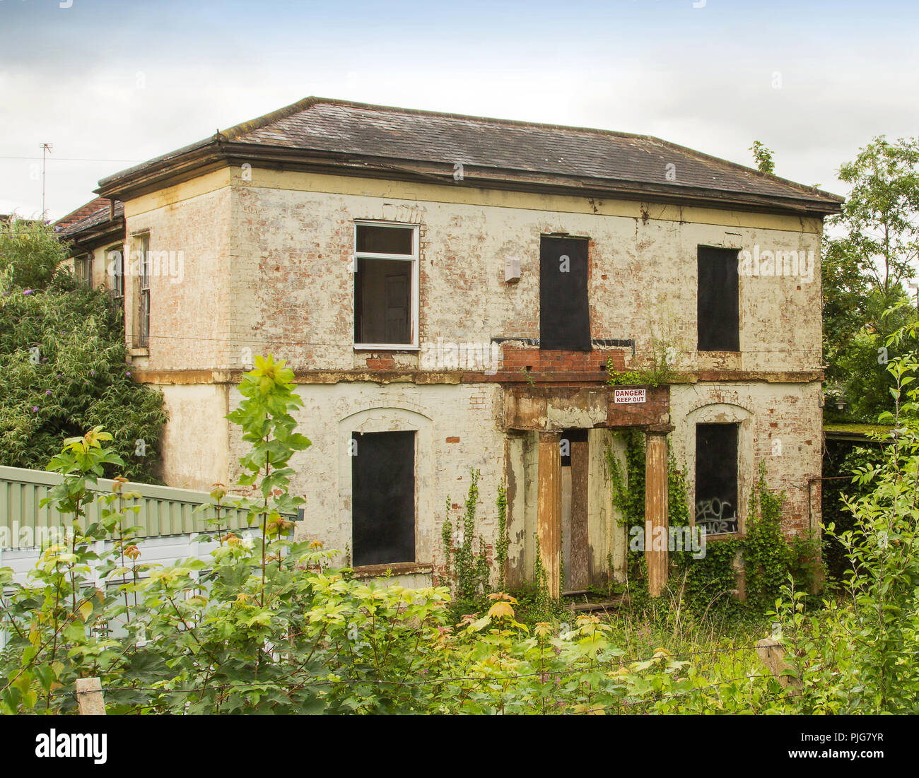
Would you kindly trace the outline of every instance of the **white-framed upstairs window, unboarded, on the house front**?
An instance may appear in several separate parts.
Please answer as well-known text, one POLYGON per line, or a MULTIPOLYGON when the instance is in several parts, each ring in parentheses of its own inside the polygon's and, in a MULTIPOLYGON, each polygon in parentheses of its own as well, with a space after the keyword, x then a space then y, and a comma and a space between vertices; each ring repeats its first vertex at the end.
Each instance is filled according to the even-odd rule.
POLYGON ((418 227, 356 221, 354 345, 418 347, 418 227))

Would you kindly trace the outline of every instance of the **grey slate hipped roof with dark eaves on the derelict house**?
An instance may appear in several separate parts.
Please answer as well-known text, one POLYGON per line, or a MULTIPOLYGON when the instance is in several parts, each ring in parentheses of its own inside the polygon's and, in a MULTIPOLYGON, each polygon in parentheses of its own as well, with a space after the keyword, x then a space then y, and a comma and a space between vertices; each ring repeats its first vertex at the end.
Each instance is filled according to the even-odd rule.
POLYGON ((308 97, 104 178, 122 199, 227 163, 823 216, 842 197, 647 135, 308 97), (456 180, 457 164, 462 179, 456 180), (670 175, 668 176, 668 172, 670 175))

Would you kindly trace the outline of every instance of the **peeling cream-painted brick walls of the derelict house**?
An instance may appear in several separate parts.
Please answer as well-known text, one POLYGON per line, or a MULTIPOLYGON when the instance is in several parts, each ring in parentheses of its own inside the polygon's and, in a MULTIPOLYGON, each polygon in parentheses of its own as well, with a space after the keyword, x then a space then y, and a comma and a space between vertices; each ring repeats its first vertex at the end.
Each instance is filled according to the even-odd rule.
MULTIPOLYGON (((521 495, 536 477, 538 442, 508 430, 505 387, 521 396, 533 388, 602 389, 607 359, 617 370, 640 369, 663 343, 679 375, 665 421, 690 495, 694 425, 736 423, 741 513, 764 461, 770 486, 788 493, 789 533, 819 526, 819 484, 811 488, 821 473, 819 268, 811 283, 739 277, 739 353, 696 350, 696 281, 699 245, 757 244, 819 257, 821 220, 257 167, 246 174, 226 168, 125 204, 129 242, 149 232, 152 248, 186 257, 181 284, 153 279, 150 345, 133 356, 137 378, 164 390, 168 484, 233 482, 245 446, 223 416, 239 402, 234 383, 252 357, 270 351, 297 373, 298 421, 313 443, 291 461, 294 490, 307 498, 298 532, 344 551, 351 435, 414 430, 418 567, 406 580, 430 581, 441 561, 444 502, 462 502, 470 468, 482 471, 480 528, 490 547, 498 483, 516 479, 520 510, 536 510, 535 493, 521 495), (355 347, 355 220, 419 226, 418 348, 355 347), (539 246, 550 234, 589 238, 591 337, 632 346, 539 350, 539 246), (508 258, 520 263, 515 283, 505 283, 508 258), (482 358, 496 344, 499 363, 427 365, 425 343, 437 339, 478 344, 482 358)), ((443 353, 443 344, 427 354, 443 353)), ((603 536, 596 567, 606 553, 622 557, 601 472, 615 420, 582 416, 574 414, 571 426, 597 430, 587 486, 592 543, 603 536)), ((528 531, 515 525, 510 550, 523 571, 532 567, 528 531)))

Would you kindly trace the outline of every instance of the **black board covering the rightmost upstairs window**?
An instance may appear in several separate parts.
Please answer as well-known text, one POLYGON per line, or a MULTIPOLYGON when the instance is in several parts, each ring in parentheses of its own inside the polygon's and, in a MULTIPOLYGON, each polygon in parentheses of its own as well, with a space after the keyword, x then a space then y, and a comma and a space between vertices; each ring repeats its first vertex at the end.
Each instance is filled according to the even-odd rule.
POLYGON ((740 350, 737 249, 698 247, 698 350, 740 350))

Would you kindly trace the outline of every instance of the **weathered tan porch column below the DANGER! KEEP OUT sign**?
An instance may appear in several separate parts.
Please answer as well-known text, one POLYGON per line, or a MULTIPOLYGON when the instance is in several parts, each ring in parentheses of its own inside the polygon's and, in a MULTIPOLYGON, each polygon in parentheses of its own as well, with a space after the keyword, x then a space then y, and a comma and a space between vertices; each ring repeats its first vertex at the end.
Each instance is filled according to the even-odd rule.
POLYGON ((659 597, 667 582, 670 565, 667 519, 667 433, 669 424, 645 431, 644 557, 648 563, 648 591, 659 597), (663 532, 658 530, 663 528, 663 532))

